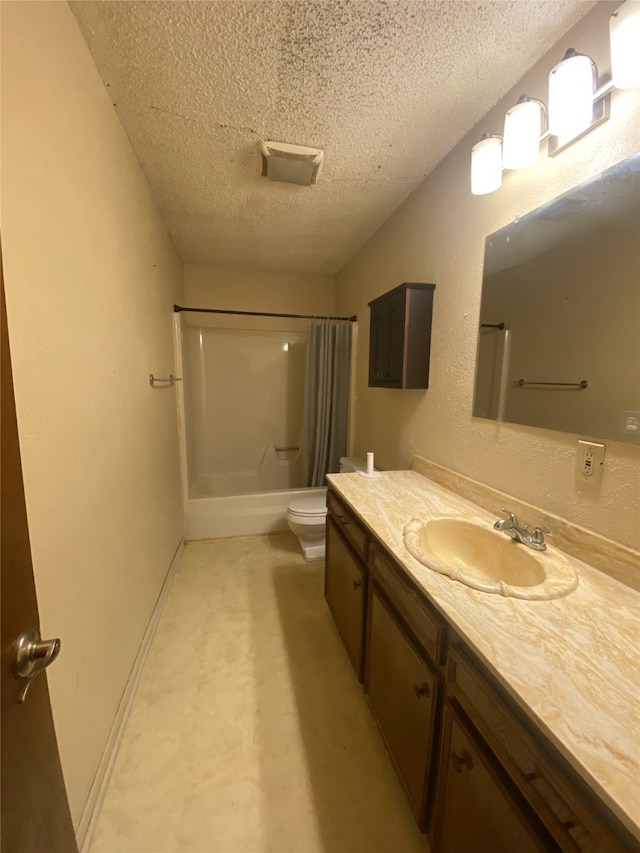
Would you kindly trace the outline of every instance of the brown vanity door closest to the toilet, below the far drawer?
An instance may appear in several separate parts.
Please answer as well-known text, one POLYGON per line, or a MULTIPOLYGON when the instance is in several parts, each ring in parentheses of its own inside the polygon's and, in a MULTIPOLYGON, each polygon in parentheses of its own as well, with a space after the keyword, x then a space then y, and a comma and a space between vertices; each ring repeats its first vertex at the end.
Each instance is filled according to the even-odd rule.
POLYGON ((365 581, 366 575, 357 557, 328 516, 324 594, 360 681, 365 581))

